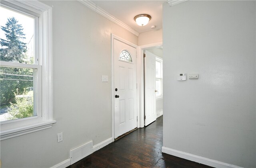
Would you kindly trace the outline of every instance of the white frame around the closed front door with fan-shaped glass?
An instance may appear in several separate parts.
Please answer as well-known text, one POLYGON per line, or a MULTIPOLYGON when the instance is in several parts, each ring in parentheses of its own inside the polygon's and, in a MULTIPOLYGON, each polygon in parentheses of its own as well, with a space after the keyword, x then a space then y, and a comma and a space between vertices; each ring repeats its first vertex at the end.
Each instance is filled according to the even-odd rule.
MULTIPOLYGON (((125 43, 127 45, 130 45, 134 48, 136 48, 136 55, 138 55, 138 45, 135 45, 125 39, 122 39, 114 34, 111 34, 111 127, 112 127, 112 141, 114 142, 114 99, 115 99, 115 90, 114 90, 114 39, 121 41, 122 43, 125 43)), ((138 60, 138 59, 137 59, 138 60)), ((138 61, 137 61, 137 67, 138 67, 138 61)), ((136 70, 136 74, 138 75, 138 70, 136 70)), ((137 76, 137 83, 138 83, 138 76, 137 76)), ((137 97, 138 97, 139 90, 137 89, 137 97)), ((138 99, 137 99, 137 116, 138 116, 138 99)), ((137 127, 138 121, 137 121, 137 127)))

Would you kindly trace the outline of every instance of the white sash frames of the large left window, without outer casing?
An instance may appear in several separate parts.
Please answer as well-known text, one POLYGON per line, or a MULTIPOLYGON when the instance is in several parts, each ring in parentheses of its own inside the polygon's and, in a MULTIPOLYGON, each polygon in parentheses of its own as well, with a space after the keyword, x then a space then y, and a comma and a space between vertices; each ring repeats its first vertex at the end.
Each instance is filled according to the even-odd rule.
MULTIPOLYGON (((16 2, 14 2, 16 3, 16 2)), ((32 68, 34 73, 33 77, 33 111, 37 113, 37 115, 32 117, 13 119, 7 121, 1 121, 1 127, 4 129, 5 127, 15 127, 15 125, 27 124, 29 122, 38 122, 42 120, 42 110, 41 110, 41 84, 42 84, 42 66, 39 65, 39 17, 40 14, 32 12, 30 10, 26 10, 21 6, 16 6, 8 1, 2 1, 0 4, 1 7, 4 7, 8 10, 12 10, 14 12, 24 14, 25 16, 34 18, 34 64, 25 64, 25 63, 17 63, 17 62, 7 62, 0 61, 0 66, 5 67, 13 67, 13 68, 32 68), (16 123, 16 124, 14 124, 16 123)))

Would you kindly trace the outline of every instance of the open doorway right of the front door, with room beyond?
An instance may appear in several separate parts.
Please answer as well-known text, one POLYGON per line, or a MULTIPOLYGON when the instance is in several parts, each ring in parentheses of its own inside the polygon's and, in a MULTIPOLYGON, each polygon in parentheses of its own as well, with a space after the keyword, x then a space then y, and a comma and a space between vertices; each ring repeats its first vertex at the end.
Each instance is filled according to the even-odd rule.
POLYGON ((163 48, 143 50, 144 59, 144 126, 163 115, 163 48))

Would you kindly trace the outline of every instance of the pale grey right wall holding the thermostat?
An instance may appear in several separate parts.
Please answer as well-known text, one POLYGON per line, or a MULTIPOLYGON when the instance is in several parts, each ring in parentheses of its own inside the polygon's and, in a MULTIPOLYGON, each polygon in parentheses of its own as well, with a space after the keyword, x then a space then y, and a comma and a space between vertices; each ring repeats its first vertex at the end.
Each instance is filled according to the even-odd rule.
POLYGON ((256 167, 255 1, 163 5, 164 147, 256 167), (176 75, 198 73, 198 80, 176 75))

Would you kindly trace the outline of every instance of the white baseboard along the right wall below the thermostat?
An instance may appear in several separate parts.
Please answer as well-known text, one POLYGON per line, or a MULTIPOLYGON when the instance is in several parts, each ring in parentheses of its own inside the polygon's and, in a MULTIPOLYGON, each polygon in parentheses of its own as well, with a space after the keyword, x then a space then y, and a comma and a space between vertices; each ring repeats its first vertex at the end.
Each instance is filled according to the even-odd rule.
POLYGON ((182 152, 180 150, 175 150, 175 149, 171 149, 171 148, 167 148, 167 147, 162 147, 162 152, 173 155, 173 156, 177 156, 179 158, 184 158, 184 159, 187 159, 187 160, 191 160, 193 162, 198 162, 198 163, 205 164, 205 165, 208 165, 208 166, 216 167, 216 168, 242 168, 242 167, 235 166, 235 165, 232 165, 232 164, 220 162, 220 161, 217 161, 217 160, 212 160, 212 159, 209 159, 209 158, 204 158, 204 157, 201 157, 201 156, 197 156, 197 155, 194 155, 194 154, 182 152))

